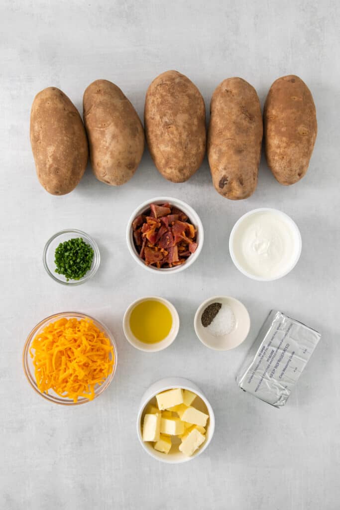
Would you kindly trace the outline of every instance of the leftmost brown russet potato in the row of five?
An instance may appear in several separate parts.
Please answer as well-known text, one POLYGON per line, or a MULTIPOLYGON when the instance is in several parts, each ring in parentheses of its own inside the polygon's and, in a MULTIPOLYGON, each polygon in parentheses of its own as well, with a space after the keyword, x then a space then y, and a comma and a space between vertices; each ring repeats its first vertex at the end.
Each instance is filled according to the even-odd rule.
POLYGON ((88 146, 78 110, 56 87, 35 96, 30 138, 40 184, 52 195, 70 193, 84 175, 88 146))

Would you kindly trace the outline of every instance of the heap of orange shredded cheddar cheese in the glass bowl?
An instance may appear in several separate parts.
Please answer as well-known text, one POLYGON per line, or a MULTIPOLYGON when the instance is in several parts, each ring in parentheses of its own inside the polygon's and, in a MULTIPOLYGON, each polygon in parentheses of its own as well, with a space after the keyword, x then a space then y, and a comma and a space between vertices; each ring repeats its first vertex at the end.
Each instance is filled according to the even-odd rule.
POLYGON ((59 319, 34 338, 30 348, 39 390, 74 402, 92 400, 114 366, 110 340, 90 319, 59 319))

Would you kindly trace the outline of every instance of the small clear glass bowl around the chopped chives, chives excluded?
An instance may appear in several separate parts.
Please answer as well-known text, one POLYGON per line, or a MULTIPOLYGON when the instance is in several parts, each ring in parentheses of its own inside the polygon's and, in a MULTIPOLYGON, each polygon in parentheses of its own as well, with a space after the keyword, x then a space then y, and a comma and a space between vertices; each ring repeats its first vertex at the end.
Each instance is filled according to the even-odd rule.
POLYGON ((67 230, 57 232, 57 234, 48 239, 44 247, 42 260, 44 263, 44 268, 47 271, 47 274, 51 278, 53 278, 55 282, 58 282, 59 284, 63 285, 69 285, 70 287, 72 287, 74 285, 81 285, 87 282, 97 272, 100 264, 100 253, 97 243, 94 241, 94 239, 92 239, 92 237, 90 237, 85 232, 82 232, 81 230, 69 228, 67 230), (74 239, 77 237, 83 238, 83 241, 86 242, 87 244, 90 244, 90 246, 92 247, 94 253, 92 265, 91 269, 82 278, 80 278, 79 280, 69 279, 69 281, 67 282, 66 276, 55 272, 56 269, 55 252, 56 248, 59 246, 60 243, 63 243, 64 241, 69 241, 70 239, 74 239))

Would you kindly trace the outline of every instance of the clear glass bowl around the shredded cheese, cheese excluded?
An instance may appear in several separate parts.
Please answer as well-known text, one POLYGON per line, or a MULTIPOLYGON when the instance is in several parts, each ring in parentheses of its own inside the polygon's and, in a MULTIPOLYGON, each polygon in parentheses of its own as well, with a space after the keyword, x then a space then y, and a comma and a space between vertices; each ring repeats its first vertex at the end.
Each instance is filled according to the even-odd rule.
POLYGON ((88 398, 85 398, 85 397, 79 397, 77 402, 74 402, 73 400, 71 400, 69 398, 60 397, 53 390, 48 390, 48 393, 42 393, 37 386, 36 379, 34 376, 34 365, 33 365, 33 360, 31 358, 31 355, 30 355, 30 348, 31 348, 32 341, 36 337, 36 335, 38 333, 40 333, 40 331, 42 331, 44 329, 44 327, 47 326, 50 322, 55 322, 56 320, 62 319, 62 318, 90 319, 94 322, 95 326, 98 329, 100 329, 101 331, 103 331, 103 333, 106 335, 106 337, 110 340, 111 345, 113 346, 115 362, 114 362, 111 374, 104 380, 104 382, 102 382, 102 384, 100 386, 96 385, 95 390, 94 390, 94 398, 101 395, 101 393, 108 388, 108 386, 110 385, 110 383, 116 373, 116 368, 117 368, 117 346, 116 346, 115 339, 111 335, 109 329, 106 326, 104 326, 104 324, 102 324, 102 322, 99 322, 98 320, 94 319, 93 317, 90 317, 90 315, 85 315, 80 312, 61 312, 58 314, 50 315, 49 317, 46 317, 45 319, 40 321, 32 329, 31 333, 29 334, 29 336, 25 342, 25 345, 24 345, 23 351, 22 351, 23 370, 24 370, 25 376, 27 377, 32 388, 41 397, 45 398, 46 400, 49 400, 50 402, 54 402, 56 404, 61 404, 61 405, 85 404, 86 402, 91 402, 91 400, 89 400, 88 398))

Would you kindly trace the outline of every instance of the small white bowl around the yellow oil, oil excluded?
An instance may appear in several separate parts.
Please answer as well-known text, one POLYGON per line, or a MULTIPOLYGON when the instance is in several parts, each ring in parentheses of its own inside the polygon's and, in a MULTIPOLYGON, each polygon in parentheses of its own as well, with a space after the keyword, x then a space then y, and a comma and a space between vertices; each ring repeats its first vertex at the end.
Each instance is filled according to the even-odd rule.
POLYGON ((175 340, 178 334, 178 329, 179 329, 179 317, 177 310, 175 309, 174 305, 170 303, 170 301, 159 296, 145 296, 141 297, 140 299, 136 299, 136 301, 129 305, 123 317, 123 330, 126 340, 131 345, 136 347, 136 349, 142 350, 144 352, 157 352, 169 347, 169 345, 171 345, 172 342, 175 340), (155 344, 146 344, 144 342, 141 342, 140 340, 138 340, 138 338, 135 337, 130 328, 130 315, 133 309, 136 307, 137 304, 143 301, 147 301, 149 299, 160 301, 161 303, 165 304, 165 306, 169 309, 172 316, 172 326, 169 335, 164 340, 161 340, 160 342, 157 342, 155 344))

